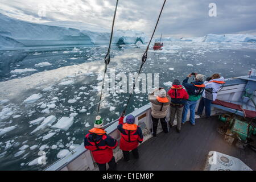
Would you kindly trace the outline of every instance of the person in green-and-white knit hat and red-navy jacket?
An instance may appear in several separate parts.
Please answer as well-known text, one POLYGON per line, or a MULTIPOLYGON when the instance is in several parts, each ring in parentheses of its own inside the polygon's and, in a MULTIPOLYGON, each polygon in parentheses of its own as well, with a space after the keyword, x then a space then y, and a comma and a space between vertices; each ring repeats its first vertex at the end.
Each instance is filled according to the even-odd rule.
POLYGON ((106 171, 106 163, 109 164, 109 170, 115 171, 117 164, 113 156, 113 149, 117 147, 117 140, 106 134, 102 129, 103 121, 100 115, 97 115, 94 128, 84 138, 84 147, 92 151, 93 158, 100 171, 106 171))

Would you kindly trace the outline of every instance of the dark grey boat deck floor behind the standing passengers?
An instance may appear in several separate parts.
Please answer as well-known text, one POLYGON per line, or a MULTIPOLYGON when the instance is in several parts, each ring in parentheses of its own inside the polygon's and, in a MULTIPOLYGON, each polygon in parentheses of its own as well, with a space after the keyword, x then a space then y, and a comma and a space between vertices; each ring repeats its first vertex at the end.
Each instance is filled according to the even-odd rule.
MULTIPOLYGON (((242 160, 251 169, 256 170, 256 152, 230 146, 224 136, 217 132, 221 125, 217 117, 210 120, 196 119, 196 126, 186 122, 177 133, 175 127, 168 134, 160 133, 139 146, 140 158, 130 161, 123 159, 117 163, 119 171, 150 170, 203 170, 209 151, 217 151, 242 160)), ((158 126, 160 127, 160 126, 158 126)), ((254 140, 255 142, 255 140, 254 140)))

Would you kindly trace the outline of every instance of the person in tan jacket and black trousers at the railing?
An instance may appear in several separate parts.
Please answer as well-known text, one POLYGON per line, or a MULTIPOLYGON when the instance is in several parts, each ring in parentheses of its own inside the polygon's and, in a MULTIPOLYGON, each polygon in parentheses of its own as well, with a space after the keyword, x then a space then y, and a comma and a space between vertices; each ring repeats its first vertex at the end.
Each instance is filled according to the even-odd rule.
POLYGON ((166 94, 163 88, 155 89, 154 92, 148 95, 148 100, 151 102, 151 118, 153 125, 153 137, 156 137, 156 130, 158 128, 158 121, 160 119, 164 133, 169 132, 168 122, 166 119, 167 110, 170 107, 171 98, 166 94), (158 96, 155 96, 158 92, 158 96))

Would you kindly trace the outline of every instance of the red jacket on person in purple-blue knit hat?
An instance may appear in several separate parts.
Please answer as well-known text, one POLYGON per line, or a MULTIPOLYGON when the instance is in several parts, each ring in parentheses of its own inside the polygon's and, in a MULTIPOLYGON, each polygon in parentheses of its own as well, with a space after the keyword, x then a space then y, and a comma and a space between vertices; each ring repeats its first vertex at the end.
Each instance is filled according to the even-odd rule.
POLYGON ((141 127, 135 124, 123 123, 123 118, 119 118, 117 129, 121 132, 120 149, 123 151, 134 150, 143 141, 141 127))

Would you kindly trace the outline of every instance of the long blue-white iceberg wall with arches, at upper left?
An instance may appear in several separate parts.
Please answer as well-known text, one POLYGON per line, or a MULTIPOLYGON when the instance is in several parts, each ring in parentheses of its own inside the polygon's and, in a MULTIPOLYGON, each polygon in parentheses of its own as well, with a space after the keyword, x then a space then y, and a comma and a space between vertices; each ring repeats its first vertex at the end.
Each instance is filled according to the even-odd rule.
MULTIPOLYGON (((110 39, 110 30, 89 23, 32 23, 0 13, 0 24, 0 48, 108 44, 110 39)), ((146 35, 142 31, 118 30, 113 36, 113 44, 136 44, 145 41, 146 35)))

